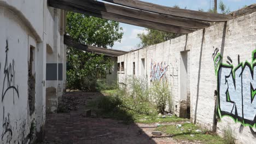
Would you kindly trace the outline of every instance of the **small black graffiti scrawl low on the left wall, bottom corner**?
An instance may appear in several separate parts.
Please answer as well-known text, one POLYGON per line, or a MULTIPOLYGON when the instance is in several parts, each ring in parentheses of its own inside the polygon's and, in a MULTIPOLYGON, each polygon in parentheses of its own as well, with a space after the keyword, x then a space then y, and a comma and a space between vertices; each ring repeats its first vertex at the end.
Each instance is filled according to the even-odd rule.
POLYGON ((2 133, 2 141, 3 138, 7 138, 7 143, 10 143, 11 137, 13 136, 13 131, 11 130, 11 125, 10 125, 10 113, 7 114, 7 117, 5 117, 4 114, 4 107, 3 107, 3 133, 2 133))

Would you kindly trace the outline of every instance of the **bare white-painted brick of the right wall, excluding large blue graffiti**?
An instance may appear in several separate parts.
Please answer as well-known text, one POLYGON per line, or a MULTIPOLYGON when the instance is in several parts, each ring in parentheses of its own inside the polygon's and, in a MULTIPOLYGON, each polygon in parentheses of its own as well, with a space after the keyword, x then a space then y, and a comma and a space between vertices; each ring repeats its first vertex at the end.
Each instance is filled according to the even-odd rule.
MULTIPOLYGON (((214 118, 214 91, 217 90, 217 76, 214 71, 212 54, 216 47, 222 53, 223 63, 232 59, 234 67, 240 62, 251 62, 252 51, 256 49, 256 13, 241 16, 226 23, 216 23, 211 27, 165 41, 164 43, 148 46, 144 49, 118 57, 118 62, 125 62, 127 68, 124 74, 119 74, 119 82, 125 81, 132 75, 132 62, 136 62, 136 69, 141 68, 141 58, 145 58, 147 81, 150 86, 151 62, 166 62, 168 70, 165 74, 172 92, 174 113, 179 115, 179 102, 181 93, 181 52, 188 52, 188 86, 191 100, 191 121, 212 130, 214 118), (204 35, 203 35, 204 33, 204 35), (214 47, 214 48, 213 48, 214 47), (177 105, 177 108, 175 107, 177 105)), ((136 70, 137 71, 137 70, 136 70)), ((136 73, 136 76, 139 74, 136 73)), ((256 107, 256 106, 255 106, 256 107)), ((243 128, 239 133, 240 123, 231 118, 224 117, 218 122, 218 133, 230 125, 237 134, 237 142, 253 143, 255 137, 249 127, 243 128)), ((253 129, 256 131, 255 129, 253 129)))

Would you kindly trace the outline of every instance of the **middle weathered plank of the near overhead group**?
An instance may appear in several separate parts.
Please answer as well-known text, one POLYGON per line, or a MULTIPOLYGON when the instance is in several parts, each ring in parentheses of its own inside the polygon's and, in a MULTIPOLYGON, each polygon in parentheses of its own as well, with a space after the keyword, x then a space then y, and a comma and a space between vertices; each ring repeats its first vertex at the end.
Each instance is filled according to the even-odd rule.
POLYGON ((185 19, 177 16, 168 16, 162 14, 151 13, 148 11, 136 10, 131 8, 120 7, 118 5, 102 3, 93 0, 63 0, 72 4, 77 4, 89 9, 96 9, 99 11, 105 11, 107 13, 113 13, 128 17, 133 17, 141 20, 153 21, 158 23, 165 23, 167 25, 187 27, 187 28, 205 28, 209 27, 210 23, 185 19))

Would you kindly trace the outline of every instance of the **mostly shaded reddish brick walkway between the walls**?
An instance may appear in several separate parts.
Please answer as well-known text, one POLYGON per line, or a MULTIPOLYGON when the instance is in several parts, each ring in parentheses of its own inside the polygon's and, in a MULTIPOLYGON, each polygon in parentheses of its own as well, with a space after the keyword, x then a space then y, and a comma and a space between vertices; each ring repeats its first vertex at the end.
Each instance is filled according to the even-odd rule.
POLYGON ((168 136, 151 137, 154 124, 126 125, 114 119, 83 117, 83 103, 103 97, 101 93, 71 92, 65 97, 82 104, 76 111, 46 115, 45 143, 176 143, 168 136))

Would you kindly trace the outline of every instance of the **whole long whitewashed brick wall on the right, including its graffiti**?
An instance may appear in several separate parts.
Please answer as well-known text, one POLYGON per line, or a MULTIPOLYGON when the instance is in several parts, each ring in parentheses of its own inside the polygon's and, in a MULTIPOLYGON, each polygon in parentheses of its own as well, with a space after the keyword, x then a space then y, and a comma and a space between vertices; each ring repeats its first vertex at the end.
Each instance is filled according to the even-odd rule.
POLYGON ((124 71, 118 73, 118 81, 126 84, 126 78, 132 75, 133 62, 136 65, 135 75, 140 77, 142 73, 141 59, 144 58, 146 80, 149 87, 152 85, 152 80, 164 80, 168 83, 173 99, 171 109, 176 115, 184 114, 182 112, 184 107, 181 106, 181 103, 183 100, 189 101, 190 99, 191 122, 213 130, 215 99, 218 97, 217 115, 226 115, 217 123, 218 133, 222 133, 223 129, 230 125, 237 134, 238 142, 252 143, 255 141, 254 131, 256 131, 251 128, 255 125, 255 119, 252 117, 255 117, 256 114, 256 101, 253 101, 254 91, 245 93, 241 89, 254 90, 256 80, 253 79, 252 68, 251 73, 248 73, 250 67, 246 69, 245 66, 241 66, 241 70, 244 71, 240 71, 240 74, 242 73, 243 77, 238 77, 239 71, 236 72, 235 67, 241 63, 245 64, 246 61, 248 65, 253 63, 252 52, 256 49, 255 32, 256 13, 252 13, 228 22, 215 23, 211 27, 188 35, 127 53, 118 57, 118 63, 124 62, 125 65, 124 71), (218 59, 219 55, 222 57, 221 59, 218 59), (187 64, 187 67, 184 64, 187 64), (215 64, 217 68, 215 68, 215 64), (158 65, 162 72, 160 74, 155 71, 158 69, 158 65), (234 68, 232 69, 234 74, 230 72, 232 70, 226 68, 227 66, 234 68), (227 71, 231 77, 222 79, 224 75, 228 75, 227 71), (152 73, 159 75, 153 76, 152 73), (231 81, 232 75, 235 77, 235 74, 237 74, 237 79, 231 81), (250 82, 252 88, 248 85, 250 82), (237 85, 235 88, 234 83, 237 85), (245 85, 241 83, 245 83, 245 85), (220 91, 228 93, 225 96, 220 91), (214 96, 214 93, 218 96, 214 96), (223 99, 224 96, 226 99, 223 99), (249 100, 251 100, 251 104, 247 102, 249 100), (236 109, 230 109, 230 106, 236 107, 236 109), (242 116, 239 114, 241 111, 248 112, 243 113, 242 116))

